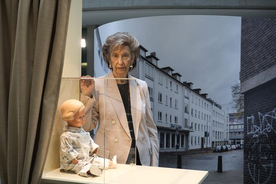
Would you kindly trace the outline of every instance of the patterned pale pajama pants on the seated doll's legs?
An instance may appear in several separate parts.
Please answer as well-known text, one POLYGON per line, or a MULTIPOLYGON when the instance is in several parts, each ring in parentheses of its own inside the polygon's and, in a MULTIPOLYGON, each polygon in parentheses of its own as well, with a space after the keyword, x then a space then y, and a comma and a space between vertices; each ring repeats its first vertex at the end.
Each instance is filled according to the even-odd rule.
POLYGON ((99 169, 107 169, 109 166, 109 159, 104 159, 102 157, 98 157, 96 154, 94 154, 92 157, 90 157, 90 160, 78 160, 79 163, 74 164, 73 162, 71 164, 75 165, 72 169, 67 171, 74 171, 76 174, 79 174, 81 176, 90 177, 91 174, 87 174, 87 171, 89 171, 90 166, 97 166, 99 169))

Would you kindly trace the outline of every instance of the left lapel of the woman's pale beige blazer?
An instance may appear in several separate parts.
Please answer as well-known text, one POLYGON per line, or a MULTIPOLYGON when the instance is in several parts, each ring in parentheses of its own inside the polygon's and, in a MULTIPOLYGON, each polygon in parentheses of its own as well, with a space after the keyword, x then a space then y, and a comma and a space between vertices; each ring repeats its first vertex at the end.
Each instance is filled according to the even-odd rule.
MULTIPOLYGON (((107 74, 108 78, 114 78, 112 71, 107 74)), ((131 138, 129 128, 128 128, 128 121, 125 114, 125 107, 123 104, 123 100, 121 94, 119 92, 117 82, 114 79, 107 79, 106 91, 108 93, 109 99, 115 112, 120 120, 122 127, 124 128, 125 132, 127 133, 128 137, 131 138)))

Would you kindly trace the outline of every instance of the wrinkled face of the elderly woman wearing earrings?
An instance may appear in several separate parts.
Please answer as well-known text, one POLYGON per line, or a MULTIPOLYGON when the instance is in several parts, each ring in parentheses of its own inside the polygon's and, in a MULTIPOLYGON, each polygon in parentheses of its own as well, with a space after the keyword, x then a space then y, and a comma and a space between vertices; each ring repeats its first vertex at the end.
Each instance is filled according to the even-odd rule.
POLYGON ((128 46, 122 45, 113 50, 110 54, 110 62, 113 68, 114 77, 126 78, 132 59, 128 46))

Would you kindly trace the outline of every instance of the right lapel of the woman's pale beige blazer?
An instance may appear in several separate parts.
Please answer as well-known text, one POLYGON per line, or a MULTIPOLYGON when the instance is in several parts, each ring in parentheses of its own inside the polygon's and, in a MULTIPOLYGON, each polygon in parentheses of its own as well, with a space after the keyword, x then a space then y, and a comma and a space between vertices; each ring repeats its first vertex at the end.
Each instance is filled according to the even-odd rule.
POLYGON ((141 118, 141 95, 140 95, 140 87, 136 83, 135 78, 128 74, 129 83, 129 93, 130 93, 130 104, 131 104, 131 116, 133 129, 135 134, 135 140, 137 140, 138 129, 140 125, 141 118))

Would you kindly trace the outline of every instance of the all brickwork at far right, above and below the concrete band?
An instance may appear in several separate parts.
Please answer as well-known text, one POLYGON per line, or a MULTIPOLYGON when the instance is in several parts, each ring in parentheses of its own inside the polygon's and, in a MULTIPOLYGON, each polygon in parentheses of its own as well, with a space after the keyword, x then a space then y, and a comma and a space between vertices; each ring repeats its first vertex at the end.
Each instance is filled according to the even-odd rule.
MULTIPOLYGON (((242 18, 240 82, 276 64, 276 20, 242 18)), ((244 183, 276 183, 276 78, 244 93, 244 183)))

